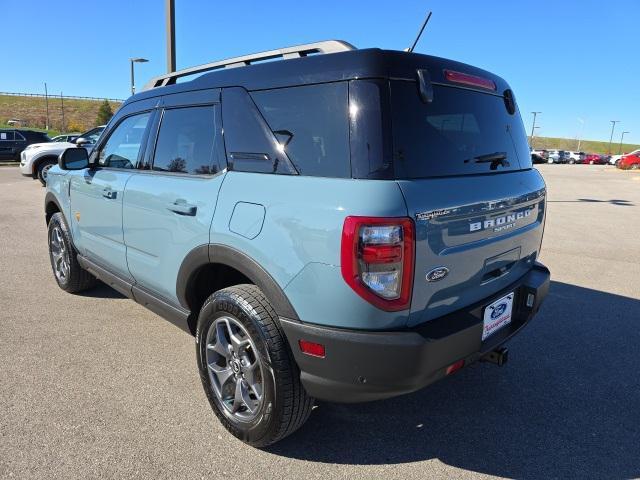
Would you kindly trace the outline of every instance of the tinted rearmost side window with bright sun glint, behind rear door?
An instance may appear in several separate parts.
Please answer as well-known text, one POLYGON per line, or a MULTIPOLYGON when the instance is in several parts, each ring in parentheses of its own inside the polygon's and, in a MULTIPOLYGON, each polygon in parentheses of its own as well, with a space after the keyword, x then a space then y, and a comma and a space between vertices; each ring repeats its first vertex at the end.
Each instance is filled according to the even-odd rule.
POLYGON ((300 175, 351 176, 346 82, 251 96, 300 175))

